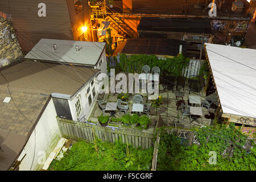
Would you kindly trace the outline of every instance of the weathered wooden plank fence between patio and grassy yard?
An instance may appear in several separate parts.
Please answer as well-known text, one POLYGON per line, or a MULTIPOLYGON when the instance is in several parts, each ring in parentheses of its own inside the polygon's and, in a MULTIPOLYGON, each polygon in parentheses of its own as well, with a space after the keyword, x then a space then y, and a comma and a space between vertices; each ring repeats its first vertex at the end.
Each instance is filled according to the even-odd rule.
POLYGON ((121 138, 123 143, 128 142, 134 147, 152 147, 153 133, 143 133, 132 129, 118 127, 102 127, 93 123, 82 123, 57 117, 61 136, 68 139, 84 139, 93 141, 93 130, 102 141, 114 143, 121 138))

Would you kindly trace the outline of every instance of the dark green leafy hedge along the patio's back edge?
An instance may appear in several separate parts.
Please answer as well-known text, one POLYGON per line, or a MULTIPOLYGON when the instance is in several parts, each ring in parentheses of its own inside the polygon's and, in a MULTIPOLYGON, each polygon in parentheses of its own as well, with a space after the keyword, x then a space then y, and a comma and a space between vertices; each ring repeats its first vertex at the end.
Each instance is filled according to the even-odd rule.
POLYGON ((125 54, 121 54, 119 60, 119 71, 141 73, 143 65, 149 65, 151 69, 159 67, 162 76, 163 72, 170 72, 173 76, 181 76, 183 68, 187 67, 189 63, 189 59, 181 54, 167 59, 158 59, 155 55, 131 55, 127 57, 125 54))

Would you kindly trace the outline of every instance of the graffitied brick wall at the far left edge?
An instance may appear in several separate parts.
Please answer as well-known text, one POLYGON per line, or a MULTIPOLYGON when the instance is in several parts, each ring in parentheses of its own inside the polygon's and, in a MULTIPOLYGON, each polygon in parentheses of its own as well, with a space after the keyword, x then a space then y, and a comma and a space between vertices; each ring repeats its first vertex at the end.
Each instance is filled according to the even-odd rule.
POLYGON ((0 16, 0 68, 23 59, 23 53, 10 19, 0 16))

